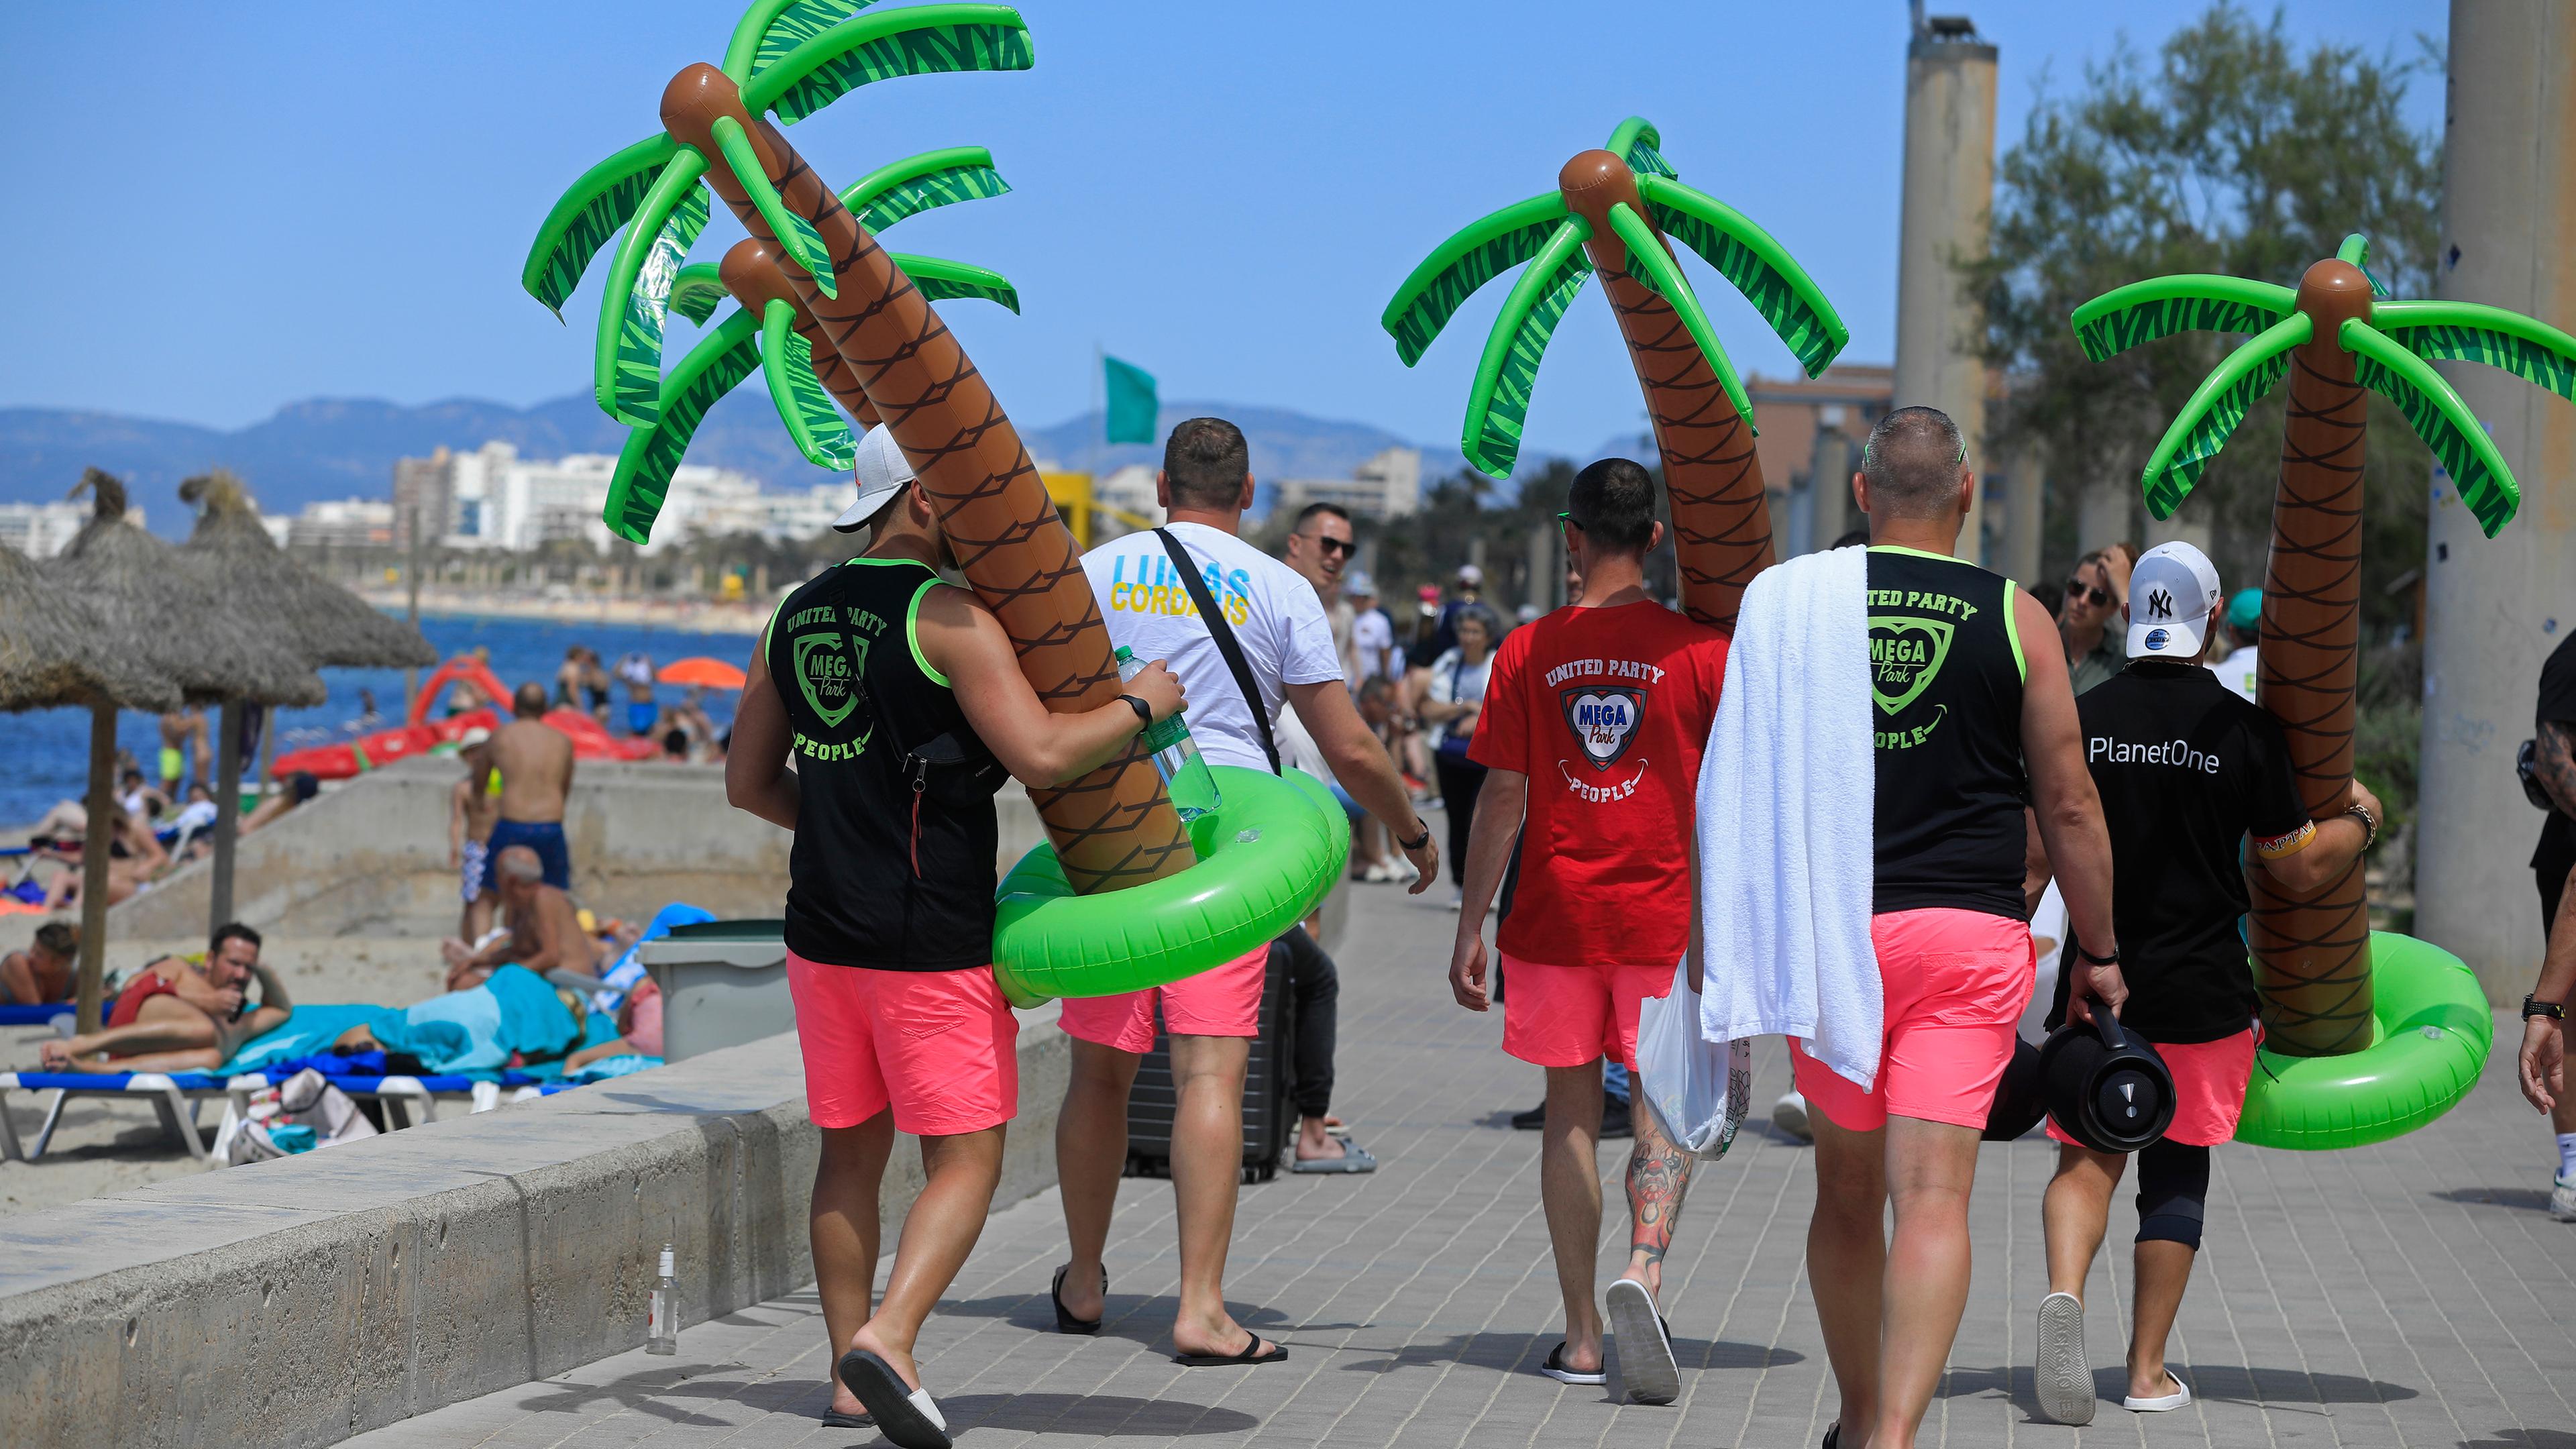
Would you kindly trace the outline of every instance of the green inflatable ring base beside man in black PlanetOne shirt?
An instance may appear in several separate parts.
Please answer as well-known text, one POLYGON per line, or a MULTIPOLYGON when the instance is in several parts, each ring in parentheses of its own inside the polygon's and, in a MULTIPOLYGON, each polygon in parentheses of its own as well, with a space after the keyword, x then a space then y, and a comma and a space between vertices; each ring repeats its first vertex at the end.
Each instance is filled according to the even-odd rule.
POLYGON ((2460 957, 2370 933, 2378 1039, 2344 1057, 2254 1055, 2236 1140, 2324 1152, 2388 1142, 2452 1109, 2486 1070, 2496 1018, 2460 957))

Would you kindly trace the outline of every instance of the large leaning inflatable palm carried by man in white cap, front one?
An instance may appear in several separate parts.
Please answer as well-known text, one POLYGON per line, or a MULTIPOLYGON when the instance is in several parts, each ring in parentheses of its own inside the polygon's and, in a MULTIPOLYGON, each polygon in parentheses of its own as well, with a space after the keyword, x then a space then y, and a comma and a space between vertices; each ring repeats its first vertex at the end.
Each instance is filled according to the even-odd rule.
MULTIPOLYGON (((1020 433, 920 278, 876 245, 770 124, 796 124, 876 80, 1028 70, 1028 26, 1005 5, 858 13, 863 3, 755 0, 721 67, 690 64, 662 90, 662 131, 590 168, 556 201, 523 281, 538 302, 562 307, 590 255, 623 227, 608 273, 613 317, 600 322, 603 405, 652 425, 665 400, 662 317, 703 224, 698 186, 714 188, 804 302, 811 333, 801 335, 840 356, 904 449, 1038 699, 1048 709, 1105 706, 1118 699, 1110 637, 1020 433)), ((1069 786, 1030 789, 1030 799, 1077 892, 1193 864, 1162 779, 1133 748, 1069 786)))

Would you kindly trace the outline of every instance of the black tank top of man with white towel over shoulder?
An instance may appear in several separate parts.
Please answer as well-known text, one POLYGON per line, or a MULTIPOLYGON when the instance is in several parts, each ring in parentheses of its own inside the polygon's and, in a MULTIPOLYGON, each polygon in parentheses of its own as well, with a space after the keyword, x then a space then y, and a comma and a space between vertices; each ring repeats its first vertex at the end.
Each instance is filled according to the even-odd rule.
POLYGON ((2022 910, 2022 639, 2012 580, 1870 549, 1878 701, 1875 913, 2022 910))

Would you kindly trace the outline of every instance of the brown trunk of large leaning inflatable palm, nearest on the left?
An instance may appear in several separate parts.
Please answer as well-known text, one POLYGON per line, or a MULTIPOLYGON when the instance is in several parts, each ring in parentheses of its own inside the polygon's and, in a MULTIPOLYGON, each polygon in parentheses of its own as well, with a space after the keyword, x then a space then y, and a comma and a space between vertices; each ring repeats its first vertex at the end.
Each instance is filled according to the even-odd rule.
MULTIPOLYGON (((719 116, 744 126, 788 211, 822 235, 837 297, 824 297, 796 263, 778 260, 822 330, 814 356, 822 361, 829 345, 894 431, 958 567, 1002 621, 1038 699, 1056 712, 1115 701, 1118 665, 1074 534, 974 361, 786 137, 744 113, 721 70, 693 64, 662 93, 662 124, 708 157, 721 155, 711 131, 719 116)), ((726 165, 711 165, 706 180, 773 258, 786 255, 726 165)), ((824 387, 840 394, 832 379, 824 387)), ((1141 884, 1195 861, 1162 776, 1136 745, 1069 786, 1030 786, 1028 794, 1077 892, 1141 884)))

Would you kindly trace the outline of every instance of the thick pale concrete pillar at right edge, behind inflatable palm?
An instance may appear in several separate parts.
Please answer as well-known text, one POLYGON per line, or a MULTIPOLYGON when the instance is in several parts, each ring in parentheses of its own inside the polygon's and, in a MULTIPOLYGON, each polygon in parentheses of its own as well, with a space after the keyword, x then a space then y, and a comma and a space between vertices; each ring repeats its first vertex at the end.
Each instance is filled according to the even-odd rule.
MULTIPOLYGON (((2452 0, 2437 291, 2576 330, 2576 8, 2452 0)), ((2514 781, 2540 660, 2576 629, 2576 407, 2476 364, 2439 364, 2522 482, 2494 539, 2434 472, 2424 562, 2416 933, 2512 1003, 2540 969, 2532 838, 2514 781)), ((2499 1044, 2501 1049, 2501 1044, 2499 1044)))

